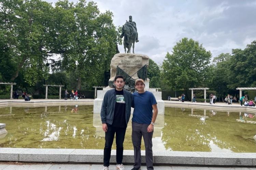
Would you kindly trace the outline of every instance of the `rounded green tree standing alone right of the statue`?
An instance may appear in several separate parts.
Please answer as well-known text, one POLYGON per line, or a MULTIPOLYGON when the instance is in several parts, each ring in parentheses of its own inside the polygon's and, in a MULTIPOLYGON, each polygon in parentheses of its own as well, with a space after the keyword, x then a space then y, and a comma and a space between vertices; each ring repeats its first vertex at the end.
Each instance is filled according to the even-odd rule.
POLYGON ((167 52, 162 64, 162 79, 172 88, 188 90, 190 87, 201 86, 210 63, 211 52, 206 51, 202 44, 193 39, 182 38, 167 52))

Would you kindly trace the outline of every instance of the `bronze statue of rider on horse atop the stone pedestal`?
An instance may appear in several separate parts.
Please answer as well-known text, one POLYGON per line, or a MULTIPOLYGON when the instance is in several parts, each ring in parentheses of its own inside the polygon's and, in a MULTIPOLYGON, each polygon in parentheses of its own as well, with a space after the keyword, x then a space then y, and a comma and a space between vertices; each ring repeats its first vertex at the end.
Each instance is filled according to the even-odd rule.
POLYGON ((134 53, 134 44, 135 42, 138 43, 138 32, 136 23, 132 21, 132 16, 129 16, 129 21, 126 20, 126 23, 123 25, 122 28, 122 34, 120 35, 120 38, 124 37, 124 49, 126 53, 131 53, 131 46, 132 46, 132 53, 134 53))

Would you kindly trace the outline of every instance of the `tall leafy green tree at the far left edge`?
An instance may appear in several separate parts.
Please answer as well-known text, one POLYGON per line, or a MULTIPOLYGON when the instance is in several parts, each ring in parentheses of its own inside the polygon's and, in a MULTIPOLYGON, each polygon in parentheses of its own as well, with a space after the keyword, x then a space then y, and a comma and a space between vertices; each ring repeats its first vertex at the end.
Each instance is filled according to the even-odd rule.
POLYGON ((34 85, 45 77, 48 28, 51 24, 51 4, 41 0, 0 2, 0 39, 8 50, 13 65, 9 80, 14 81, 23 72, 25 82, 34 85))

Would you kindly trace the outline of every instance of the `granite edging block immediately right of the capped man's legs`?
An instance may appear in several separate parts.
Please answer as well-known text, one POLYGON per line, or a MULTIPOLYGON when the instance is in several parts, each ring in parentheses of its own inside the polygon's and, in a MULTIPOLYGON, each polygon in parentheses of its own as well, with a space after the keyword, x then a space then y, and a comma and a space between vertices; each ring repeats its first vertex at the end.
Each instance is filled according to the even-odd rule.
POLYGON ((203 156, 196 152, 158 151, 153 153, 157 164, 203 165, 203 156))

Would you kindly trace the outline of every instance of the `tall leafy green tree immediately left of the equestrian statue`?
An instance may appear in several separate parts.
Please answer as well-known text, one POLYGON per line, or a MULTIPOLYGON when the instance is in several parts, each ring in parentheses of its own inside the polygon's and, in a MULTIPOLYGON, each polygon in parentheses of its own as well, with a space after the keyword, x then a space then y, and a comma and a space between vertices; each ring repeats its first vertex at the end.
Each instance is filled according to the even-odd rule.
POLYGON ((62 67, 75 72, 78 89, 82 84, 103 85, 105 72, 110 70, 111 58, 116 53, 113 14, 100 13, 94 2, 84 0, 75 5, 58 1, 55 5, 56 17, 62 18, 55 22, 65 26, 56 29, 56 41, 62 43, 57 43, 53 50, 61 55, 62 67))

